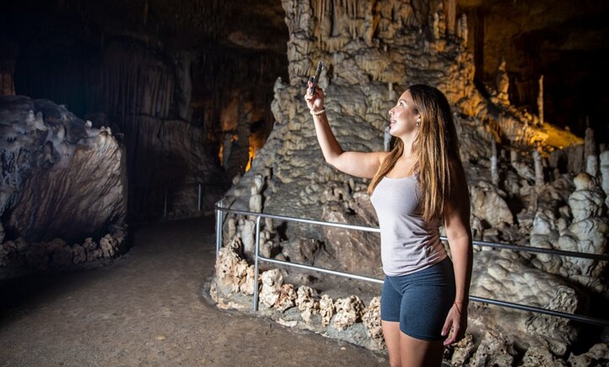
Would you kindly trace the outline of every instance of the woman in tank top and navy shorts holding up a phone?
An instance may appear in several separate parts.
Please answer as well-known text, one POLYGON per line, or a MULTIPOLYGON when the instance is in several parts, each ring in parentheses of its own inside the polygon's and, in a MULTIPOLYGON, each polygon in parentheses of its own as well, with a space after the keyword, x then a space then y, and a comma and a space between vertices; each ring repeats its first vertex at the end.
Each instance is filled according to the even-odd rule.
MULTIPOLYGON (((311 82, 309 82, 311 88, 311 82)), ((343 151, 324 94, 304 95, 330 165, 371 179, 385 281, 381 326, 391 366, 440 366, 444 346, 463 338, 472 272, 470 201, 446 97, 412 85, 389 110, 391 152, 343 151), (444 223, 451 258, 440 242, 444 223)))

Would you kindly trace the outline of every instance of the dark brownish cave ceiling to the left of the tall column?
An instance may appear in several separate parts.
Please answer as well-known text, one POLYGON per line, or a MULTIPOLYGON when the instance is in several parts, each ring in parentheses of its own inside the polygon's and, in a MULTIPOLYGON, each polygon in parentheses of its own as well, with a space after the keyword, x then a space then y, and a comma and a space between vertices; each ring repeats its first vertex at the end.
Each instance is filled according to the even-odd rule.
POLYGON ((22 37, 130 36, 174 49, 219 43, 281 53, 288 40, 279 0, 20 0, 3 1, 0 10, 2 32, 22 37))

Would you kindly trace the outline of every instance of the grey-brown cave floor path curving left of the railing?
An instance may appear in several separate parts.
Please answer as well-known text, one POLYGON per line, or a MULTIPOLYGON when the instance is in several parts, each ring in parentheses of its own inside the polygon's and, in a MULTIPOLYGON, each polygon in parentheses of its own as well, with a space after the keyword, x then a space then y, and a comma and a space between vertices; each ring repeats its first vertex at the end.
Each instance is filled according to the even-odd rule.
POLYGON ((384 353, 204 296, 213 216, 132 228, 111 265, 0 282, 0 367, 387 366, 384 353))

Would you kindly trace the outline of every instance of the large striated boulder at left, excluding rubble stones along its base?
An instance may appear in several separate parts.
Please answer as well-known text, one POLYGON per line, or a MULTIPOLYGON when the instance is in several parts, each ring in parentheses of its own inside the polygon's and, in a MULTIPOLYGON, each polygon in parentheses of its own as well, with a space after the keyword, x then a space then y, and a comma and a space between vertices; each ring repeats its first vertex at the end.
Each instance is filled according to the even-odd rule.
POLYGON ((82 240, 126 216, 125 152, 64 106, 0 97, 4 230, 27 241, 82 240))

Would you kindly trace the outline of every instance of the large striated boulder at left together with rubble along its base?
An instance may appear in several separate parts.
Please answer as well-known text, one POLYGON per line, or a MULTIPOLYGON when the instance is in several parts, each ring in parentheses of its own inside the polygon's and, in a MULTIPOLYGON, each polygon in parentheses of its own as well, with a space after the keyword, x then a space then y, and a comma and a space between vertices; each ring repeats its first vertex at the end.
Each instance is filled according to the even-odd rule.
POLYGON ((76 268, 127 249, 125 151, 109 127, 9 96, 0 97, 0 129, 0 275, 76 268))

